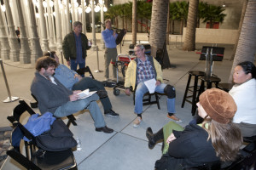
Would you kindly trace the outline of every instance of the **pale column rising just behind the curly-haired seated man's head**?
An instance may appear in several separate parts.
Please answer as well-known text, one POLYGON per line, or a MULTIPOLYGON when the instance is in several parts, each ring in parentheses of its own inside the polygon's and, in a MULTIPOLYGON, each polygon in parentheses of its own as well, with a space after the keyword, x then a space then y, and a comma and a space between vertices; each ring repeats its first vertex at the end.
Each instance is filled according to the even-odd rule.
POLYGON ((36 61, 39 57, 43 55, 43 51, 40 45, 40 40, 38 37, 37 21, 33 8, 32 1, 27 1, 28 5, 28 20, 29 20, 29 31, 31 32, 30 42, 31 42, 31 63, 32 65, 36 64, 36 61))

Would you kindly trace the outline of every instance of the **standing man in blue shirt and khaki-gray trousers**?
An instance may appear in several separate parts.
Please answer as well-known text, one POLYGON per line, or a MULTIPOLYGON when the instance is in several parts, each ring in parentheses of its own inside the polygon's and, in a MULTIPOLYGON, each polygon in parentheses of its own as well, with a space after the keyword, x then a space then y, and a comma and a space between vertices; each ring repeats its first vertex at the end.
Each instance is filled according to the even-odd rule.
MULTIPOLYGON (((112 62, 116 61, 117 57, 117 48, 116 48, 116 38, 118 37, 118 34, 111 29, 111 20, 105 20, 105 26, 106 30, 102 31, 102 38, 105 42, 106 45, 106 50, 105 50, 105 80, 108 81, 109 78, 109 64, 110 61, 112 62)), ((116 78, 116 71, 115 68, 113 67, 113 78, 116 78)))

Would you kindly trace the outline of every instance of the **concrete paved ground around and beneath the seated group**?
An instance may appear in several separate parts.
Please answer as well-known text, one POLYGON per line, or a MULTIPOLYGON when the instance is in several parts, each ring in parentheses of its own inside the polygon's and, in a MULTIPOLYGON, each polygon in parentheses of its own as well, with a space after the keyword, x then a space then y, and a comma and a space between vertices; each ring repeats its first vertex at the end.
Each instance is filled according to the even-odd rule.
MULTIPOLYGON (((98 42, 99 43, 99 42, 98 42)), ((122 53, 127 54, 129 44, 131 41, 125 41, 122 47, 122 53)), ((100 44, 98 44, 100 46, 100 44)), ((192 119, 191 105, 185 103, 184 108, 181 108, 184 89, 188 81, 187 72, 190 70, 205 71, 205 61, 199 60, 199 54, 195 52, 186 52, 180 50, 180 43, 172 42, 168 47, 168 54, 172 65, 175 68, 166 69, 163 71, 163 77, 168 79, 177 91, 176 110, 177 116, 183 122, 180 123, 185 126, 192 119)), ((196 48, 201 51, 202 45, 212 44, 197 44, 196 48)), ((214 63, 213 73, 221 78, 222 82, 227 82, 230 76, 230 68, 232 61, 230 56, 232 53, 232 45, 218 45, 224 47, 224 59, 214 63)), ((119 52, 119 47, 118 47, 119 52)), ((103 71, 104 66, 104 51, 99 51, 99 70, 103 71)), ((98 70, 96 51, 89 50, 86 58, 86 65, 90 66, 91 71, 98 70)), ((34 77, 34 67, 32 65, 22 65, 18 62, 4 61, 4 69, 8 78, 9 88, 12 96, 25 99, 26 102, 32 100, 30 94, 30 84, 34 77)), ((110 71, 111 74, 112 71, 110 71)), ((104 72, 94 73, 97 80, 103 80, 104 72)), ((119 74, 121 77, 121 74, 119 74)), ((8 97, 5 84, 3 82, 3 74, 0 72, 0 99, 8 97)), ((79 169, 83 170, 130 170, 140 169, 148 170, 154 169, 154 162, 160 159, 161 151, 160 144, 157 144, 153 150, 148 149, 148 141, 145 136, 147 127, 152 127, 153 131, 158 131, 167 122, 172 121, 166 117, 166 96, 160 97, 160 110, 156 105, 143 106, 143 122, 140 127, 133 127, 133 121, 137 117, 133 113, 132 96, 126 96, 123 91, 118 96, 113 95, 113 89, 107 88, 108 96, 113 105, 113 111, 119 113, 118 118, 105 117, 108 127, 113 128, 114 132, 111 134, 98 133, 95 131, 93 120, 90 113, 78 113, 78 126, 71 125, 70 129, 75 138, 79 138, 82 142, 82 150, 74 151, 76 161, 79 169)), ((98 103, 102 109, 102 104, 98 103)), ((18 105, 18 100, 11 103, 0 102, 0 127, 8 127, 10 124, 6 117, 12 113, 15 105, 18 105)), ((38 109, 34 111, 38 112, 38 109)), ((102 109, 103 111, 103 109, 102 109)), ((67 121, 67 120, 65 120, 67 121)), ((14 160, 7 159, 2 170, 23 169, 14 160)))

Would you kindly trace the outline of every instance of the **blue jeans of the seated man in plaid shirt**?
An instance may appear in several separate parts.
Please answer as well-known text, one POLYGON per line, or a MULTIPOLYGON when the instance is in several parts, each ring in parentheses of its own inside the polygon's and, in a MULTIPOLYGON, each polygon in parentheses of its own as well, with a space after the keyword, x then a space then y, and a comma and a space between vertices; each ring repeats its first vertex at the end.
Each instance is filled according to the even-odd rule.
MULTIPOLYGON (((155 92, 160 94, 165 94, 164 89, 166 88, 166 84, 161 83, 159 86, 155 88, 155 92)), ((135 92, 135 108, 134 112, 137 114, 141 114, 143 112, 143 95, 148 92, 148 88, 144 84, 144 82, 139 82, 137 84, 137 89, 135 92)), ((175 98, 167 99, 167 111, 168 113, 175 113, 175 98)))

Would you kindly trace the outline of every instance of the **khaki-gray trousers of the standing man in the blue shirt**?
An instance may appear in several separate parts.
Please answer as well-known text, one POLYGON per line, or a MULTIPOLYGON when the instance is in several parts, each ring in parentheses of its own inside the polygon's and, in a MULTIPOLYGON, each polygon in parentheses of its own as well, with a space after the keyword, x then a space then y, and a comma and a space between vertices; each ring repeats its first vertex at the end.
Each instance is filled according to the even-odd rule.
MULTIPOLYGON (((109 64, 110 61, 112 60, 112 62, 116 61, 116 57, 117 57, 117 48, 106 48, 105 50, 105 78, 109 78, 109 64)), ((116 78, 116 69, 113 66, 113 78, 116 78)))

